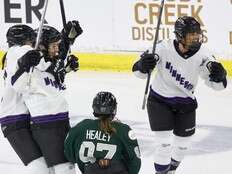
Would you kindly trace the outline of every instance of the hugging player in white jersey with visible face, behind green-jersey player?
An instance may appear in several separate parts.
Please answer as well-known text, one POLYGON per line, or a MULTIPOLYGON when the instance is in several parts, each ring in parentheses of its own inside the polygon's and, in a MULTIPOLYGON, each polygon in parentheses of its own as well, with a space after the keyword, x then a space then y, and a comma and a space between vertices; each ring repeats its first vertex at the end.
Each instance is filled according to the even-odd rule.
MULTIPOLYGON (((77 27, 75 32, 79 35, 82 30, 79 24, 77 27)), ((72 40, 66 37, 66 33, 61 34, 51 26, 43 27, 39 49, 44 57, 34 67, 29 92, 23 94, 31 114, 30 126, 34 139, 47 166, 52 167, 55 174, 75 173, 73 164, 64 156, 64 139, 70 127, 68 103, 64 97, 64 77, 66 69, 76 71, 79 66, 74 56, 69 56, 64 64, 70 42, 72 40)), ((19 89, 22 89, 22 78, 15 85, 16 88, 19 85, 19 89)))

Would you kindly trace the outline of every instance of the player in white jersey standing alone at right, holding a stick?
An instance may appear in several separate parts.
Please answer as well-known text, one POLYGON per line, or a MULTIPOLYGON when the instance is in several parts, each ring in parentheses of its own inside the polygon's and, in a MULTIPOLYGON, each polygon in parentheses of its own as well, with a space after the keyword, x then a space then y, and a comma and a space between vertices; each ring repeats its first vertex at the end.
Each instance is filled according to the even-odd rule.
POLYGON ((160 41, 156 55, 146 51, 133 66, 133 72, 140 78, 146 78, 155 67, 157 70, 147 102, 150 127, 156 138, 157 174, 175 173, 195 133, 194 91, 198 77, 215 90, 227 86, 222 64, 202 45, 199 22, 193 17, 180 17, 174 33, 176 39, 160 41))

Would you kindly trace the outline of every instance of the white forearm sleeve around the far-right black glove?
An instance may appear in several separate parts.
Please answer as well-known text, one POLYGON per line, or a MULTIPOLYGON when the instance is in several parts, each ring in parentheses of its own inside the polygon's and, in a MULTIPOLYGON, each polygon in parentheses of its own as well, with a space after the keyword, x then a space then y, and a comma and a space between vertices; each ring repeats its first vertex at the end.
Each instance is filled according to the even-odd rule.
POLYGON ((215 57, 208 56, 202 59, 202 62, 200 64, 200 77, 205 81, 205 84, 208 87, 214 90, 223 90, 225 89, 225 85, 223 84, 223 82, 216 83, 216 82, 210 81, 210 78, 209 78, 210 72, 207 68, 207 63, 209 63, 210 61, 216 61, 215 57))

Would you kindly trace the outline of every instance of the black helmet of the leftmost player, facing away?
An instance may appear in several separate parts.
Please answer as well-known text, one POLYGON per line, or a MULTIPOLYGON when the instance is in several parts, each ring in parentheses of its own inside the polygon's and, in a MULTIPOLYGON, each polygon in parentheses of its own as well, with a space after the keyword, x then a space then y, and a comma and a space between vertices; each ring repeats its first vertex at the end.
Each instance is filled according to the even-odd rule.
POLYGON ((35 31, 27 25, 14 25, 6 33, 9 47, 13 45, 24 45, 27 41, 33 43, 35 38, 35 31))

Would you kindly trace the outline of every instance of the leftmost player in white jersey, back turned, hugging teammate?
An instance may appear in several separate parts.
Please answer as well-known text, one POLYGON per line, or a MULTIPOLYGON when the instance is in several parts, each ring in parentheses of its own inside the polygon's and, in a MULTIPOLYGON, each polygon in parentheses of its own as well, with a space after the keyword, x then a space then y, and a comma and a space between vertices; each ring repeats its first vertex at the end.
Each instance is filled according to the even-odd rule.
POLYGON ((36 66, 40 54, 32 51, 36 33, 27 25, 14 25, 6 34, 9 50, 4 61, 4 88, 0 105, 0 123, 4 136, 7 138, 18 157, 27 165, 29 173, 48 173, 45 160, 38 144, 34 141, 30 130, 30 113, 22 98, 15 91, 12 79, 18 69, 23 73, 22 64, 18 60, 27 60, 28 66, 36 66), (28 59, 29 58, 29 59, 28 59), (38 166, 37 169, 35 167, 38 166))

